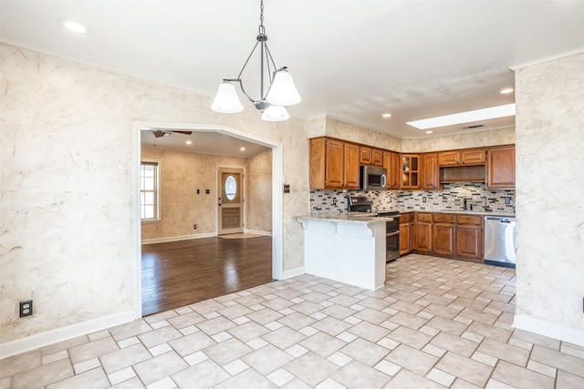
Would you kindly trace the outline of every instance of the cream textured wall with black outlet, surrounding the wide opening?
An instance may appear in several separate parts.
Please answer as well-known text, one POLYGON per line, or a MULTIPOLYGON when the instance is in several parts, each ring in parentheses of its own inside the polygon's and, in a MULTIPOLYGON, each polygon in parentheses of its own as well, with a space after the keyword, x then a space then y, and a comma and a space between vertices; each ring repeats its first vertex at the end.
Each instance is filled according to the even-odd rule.
MULTIPOLYGON (((196 71, 196 69, 195 69, 196 71)), ((0 343, 132 315, 136 121, 214 124, 282 145, 283 269, 301 266, 308 122, 234 115, 212 97, 0 45, 0 343), (35 300, 22 320, 17 302, 35 300)))

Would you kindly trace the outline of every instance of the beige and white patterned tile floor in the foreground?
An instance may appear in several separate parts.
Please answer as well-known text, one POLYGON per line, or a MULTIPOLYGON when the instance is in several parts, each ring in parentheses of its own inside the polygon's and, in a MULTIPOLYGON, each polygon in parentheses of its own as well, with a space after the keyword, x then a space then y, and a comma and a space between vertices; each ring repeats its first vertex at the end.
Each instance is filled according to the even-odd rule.
POLYGON ((0 361, 0 388, 584 388, 511 327, 515 271, 411 254, 367 291, 302 275, 0 361))

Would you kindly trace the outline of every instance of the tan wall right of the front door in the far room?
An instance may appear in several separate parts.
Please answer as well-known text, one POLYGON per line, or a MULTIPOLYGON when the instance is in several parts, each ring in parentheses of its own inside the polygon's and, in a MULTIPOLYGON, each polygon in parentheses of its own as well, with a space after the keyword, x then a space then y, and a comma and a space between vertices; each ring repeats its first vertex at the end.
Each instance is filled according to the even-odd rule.
POLYGON ((272 149, 247 159, 246 230, 272 231, 272 149))

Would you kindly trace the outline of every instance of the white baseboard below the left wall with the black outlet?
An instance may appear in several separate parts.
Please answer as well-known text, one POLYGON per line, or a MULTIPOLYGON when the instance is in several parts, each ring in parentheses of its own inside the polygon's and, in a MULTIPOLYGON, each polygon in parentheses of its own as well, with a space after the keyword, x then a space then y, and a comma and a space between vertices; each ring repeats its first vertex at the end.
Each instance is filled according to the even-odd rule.
POLYGON ((125 311, 86 322, 78 322, 48 331, 47 333, 37 333, 26 338, 16 339, 16 341, 2 343, 0 344, 0 359, 36 350, 50 344, 67 341, 68 339, 73 339, 81 335, 97 333, 115 327, 116 325, 131 322, 135 319, 135 311, 125 311))

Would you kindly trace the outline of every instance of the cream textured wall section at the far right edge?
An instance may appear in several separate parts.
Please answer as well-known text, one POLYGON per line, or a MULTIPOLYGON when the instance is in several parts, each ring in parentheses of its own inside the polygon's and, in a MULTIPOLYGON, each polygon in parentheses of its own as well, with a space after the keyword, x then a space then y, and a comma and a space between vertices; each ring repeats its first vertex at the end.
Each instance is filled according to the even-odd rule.
POLYGON ((584 54, 516 71, 516 324, 584 345, 584 54))

